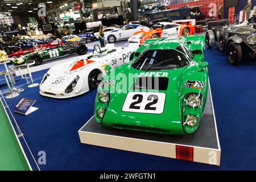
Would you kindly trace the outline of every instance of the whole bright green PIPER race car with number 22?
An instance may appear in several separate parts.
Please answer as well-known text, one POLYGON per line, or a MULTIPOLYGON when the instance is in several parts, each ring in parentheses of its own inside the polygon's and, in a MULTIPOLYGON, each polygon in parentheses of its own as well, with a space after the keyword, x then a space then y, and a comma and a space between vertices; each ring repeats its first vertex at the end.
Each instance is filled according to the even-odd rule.
POLYGON ((194 133, 208 92, 204 38, 147 40, 133 60, 110 70, 98 88, 94 117, 117 129, 194 133))

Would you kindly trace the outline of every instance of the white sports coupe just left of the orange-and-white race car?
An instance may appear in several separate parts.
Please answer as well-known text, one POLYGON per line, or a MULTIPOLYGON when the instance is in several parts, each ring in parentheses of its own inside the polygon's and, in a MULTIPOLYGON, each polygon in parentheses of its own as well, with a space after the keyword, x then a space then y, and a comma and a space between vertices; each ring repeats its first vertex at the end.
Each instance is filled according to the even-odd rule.
POLYGON ((150 28, 142 26, 140 24, 127 24, 120 30, 113 30, 109 32, 108 36, 105 35, 105 40, 109 43, 114 43, 117 40, 127 40, 138 31, 147 31, 150 28))

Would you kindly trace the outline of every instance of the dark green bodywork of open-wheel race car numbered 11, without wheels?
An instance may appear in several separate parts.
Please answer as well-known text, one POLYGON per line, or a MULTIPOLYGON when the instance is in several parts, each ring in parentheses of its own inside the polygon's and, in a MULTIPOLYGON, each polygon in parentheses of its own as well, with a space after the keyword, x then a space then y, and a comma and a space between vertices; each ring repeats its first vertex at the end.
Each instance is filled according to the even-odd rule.
POLYGON ((30 56, 34 55, 35 53, 39 53, 43 61, 48 59, 55 59, 56 57, 61 57, 65 55, 63 47, 59 46, 53 49, 46 49, 44 51, 39 50, 38 52, 28 53, 27 55, 24 55, 14 60, 13 65, 18 66, 25 64, 26 61, 30 60, 30 56))

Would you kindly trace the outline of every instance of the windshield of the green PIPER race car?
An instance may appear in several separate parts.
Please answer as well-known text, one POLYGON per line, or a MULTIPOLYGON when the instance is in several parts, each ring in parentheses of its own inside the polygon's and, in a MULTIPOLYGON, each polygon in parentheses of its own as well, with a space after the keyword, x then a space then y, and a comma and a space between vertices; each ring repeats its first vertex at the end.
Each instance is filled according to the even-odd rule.
POLYGON ((184 67, 191 60, 175 49, 148 50, 134 61, 133 67, 142 70, 172 69, 184 67))

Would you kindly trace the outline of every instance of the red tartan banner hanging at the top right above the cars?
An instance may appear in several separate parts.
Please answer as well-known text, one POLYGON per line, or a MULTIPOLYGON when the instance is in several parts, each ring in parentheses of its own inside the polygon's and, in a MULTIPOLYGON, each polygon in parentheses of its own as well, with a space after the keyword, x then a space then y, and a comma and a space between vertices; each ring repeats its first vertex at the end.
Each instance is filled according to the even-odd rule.
MULTIPOLYGON (((202 13, 205 14, 206 18, 209 18, 209 15, 213 15, 214 17, 218 16, 216 11, 219 9, 220 3, 222 3, 222 6, 224 6, 224 0, 199 0, 194 2, 169 5, 168 9, 177 9, 180 7, 184 7, 186 5, 188 6, 203 5, 202 7, 199 7, 199 9, 201 10, 202 13)), ((224 10, 222 12, 222 18, 223 17, 224 17, 224 10)))

